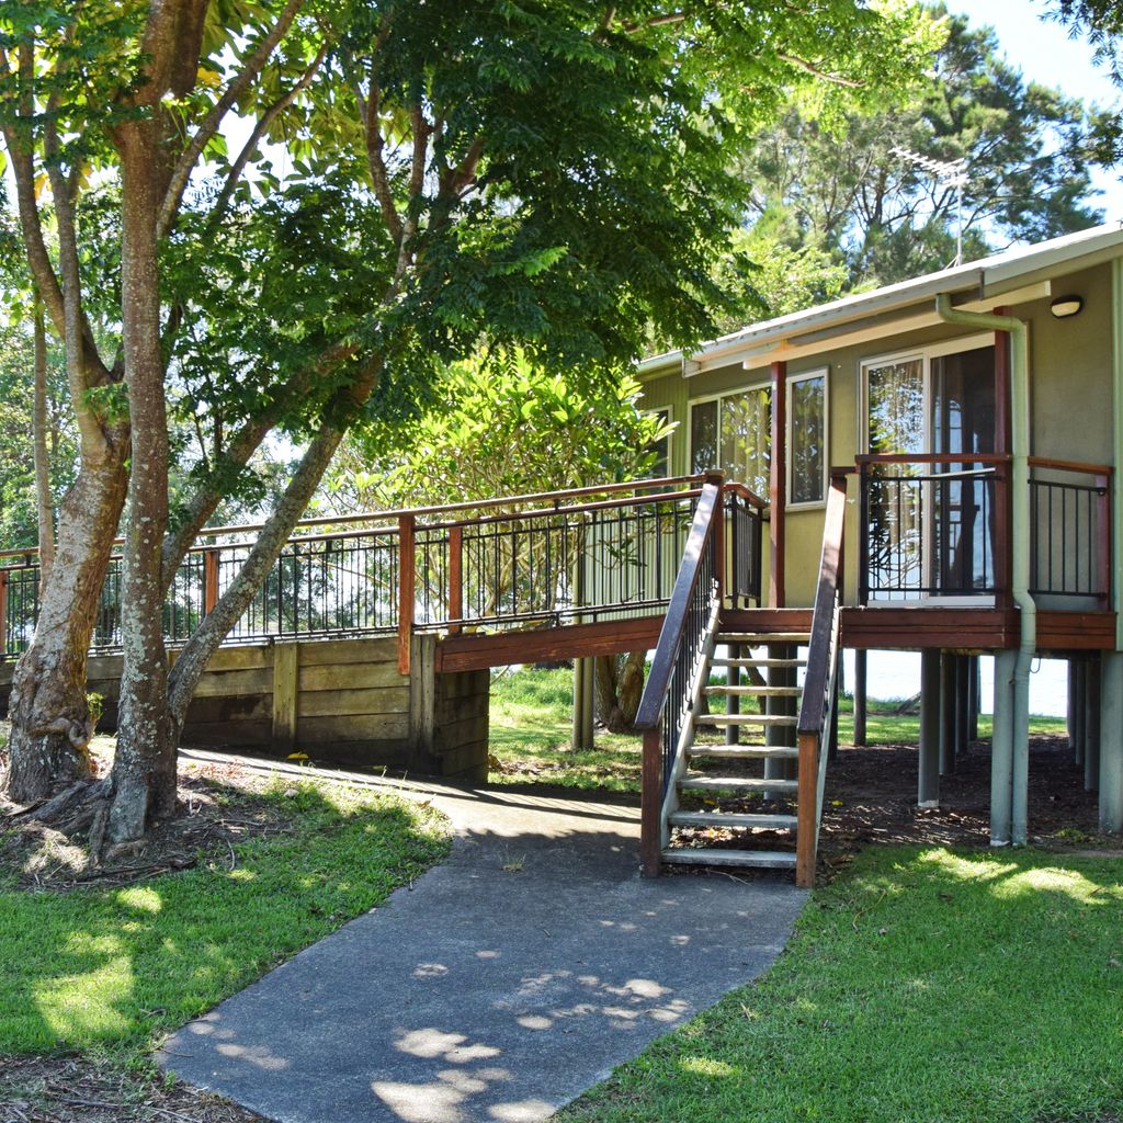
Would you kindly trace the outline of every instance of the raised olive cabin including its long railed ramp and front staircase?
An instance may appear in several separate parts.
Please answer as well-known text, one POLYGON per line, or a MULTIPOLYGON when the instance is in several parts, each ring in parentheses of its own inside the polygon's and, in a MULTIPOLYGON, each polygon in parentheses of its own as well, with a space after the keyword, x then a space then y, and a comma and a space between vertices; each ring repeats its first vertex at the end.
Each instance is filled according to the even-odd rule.
MULTIPOLYGON (((859 730, 864 652, 921 652, 921 806, 995 657, 995 846, 1029 838, 1029 672, 1048 655, 1069 664, 1101 827, 1123 831, 1123 229, 750 325, 639 375, 675 426, 654 478, 302 522, 185 741, 476 783, 491 668, 573 659, 582 743, 594 657, 648 650, 643 871, 811 885, 844 648, 859 730)), ((167 593, 170 659, 259 529, 200 532, 167 593)), ((89 664, 104 729, 120 574, 115 555, 89 664)), ((35 550, 0 550, 0 712, 38 584, 35 550)))

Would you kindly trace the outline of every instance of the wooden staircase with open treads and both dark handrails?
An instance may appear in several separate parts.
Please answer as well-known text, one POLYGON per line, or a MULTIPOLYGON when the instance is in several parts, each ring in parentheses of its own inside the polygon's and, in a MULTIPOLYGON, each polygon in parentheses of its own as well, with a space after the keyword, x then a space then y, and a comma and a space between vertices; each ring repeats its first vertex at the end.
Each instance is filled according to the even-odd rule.
POLYGON ((742 550, 736 538, 727 550, 721 477, 706 476, 636 720, 640 868, 649 877, 667 865, 763 866, 791 869, 796 885, 815 883, 838 734, 847 474, 831 473, 810 624, 805 610, 739 606, 742 550), (728 654, 716 658, 720 649, 728 654), (725 670, 724 685, 711 685, 715 668, 725 670), (768 684, 743 682, 747 670, 768 672, 768 684), (703 713, 706 699, 720 696, 725 711, 703 713), (765 712, 742 713, 746 700, 764 702, 765 712), (706 737, 721 730, 724 745, 706 737), (756 736, 740 743, 742 731, 756 736))

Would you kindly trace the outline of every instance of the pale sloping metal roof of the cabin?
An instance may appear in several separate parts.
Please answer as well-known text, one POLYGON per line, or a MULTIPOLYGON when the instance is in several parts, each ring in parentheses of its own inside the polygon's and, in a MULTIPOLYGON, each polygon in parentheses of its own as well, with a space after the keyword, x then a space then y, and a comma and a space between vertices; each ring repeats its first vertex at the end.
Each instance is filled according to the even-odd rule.
POLYGON ((930 309, 938 293, 951 294, 960 305, 992 308, 1002 303, 1002 296, 1024 300, 1046 295, 1049 281, 1120 256, 1123 222, 1093 227, 750 323, 691 353, 679 349, 652 355, 639 364, 639 374, 666 374, 683 367, 684 360, 690 374, 692 365, 695 371, 712 369, 737 362, 751 365, 765 355, 813 354, 839 346, 848 334, 861 330, 889 336, 916 326, 910 312, 930 309))

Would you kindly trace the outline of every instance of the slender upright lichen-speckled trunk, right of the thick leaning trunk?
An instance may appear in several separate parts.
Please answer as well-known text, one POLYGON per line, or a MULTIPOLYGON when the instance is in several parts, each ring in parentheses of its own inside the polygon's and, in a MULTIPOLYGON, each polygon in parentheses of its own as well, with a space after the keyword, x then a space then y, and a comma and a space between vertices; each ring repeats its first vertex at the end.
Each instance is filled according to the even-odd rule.
POLYGON ((109 837, 140 838, 175 810, 175 743, 167 719, 162 547, 167 529, 167 409, 161 348, 156 218, 163 193, 153 119, 117 133, 121 156, 121 329, 133 467, 121 584, 124 668, 109 837))

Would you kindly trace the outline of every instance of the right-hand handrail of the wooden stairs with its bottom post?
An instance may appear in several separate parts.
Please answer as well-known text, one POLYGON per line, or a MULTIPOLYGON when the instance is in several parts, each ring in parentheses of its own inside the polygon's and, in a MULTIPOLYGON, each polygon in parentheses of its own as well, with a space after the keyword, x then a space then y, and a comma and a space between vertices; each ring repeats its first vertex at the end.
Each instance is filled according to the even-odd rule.
POLYGON ((796 885, 810 888, 815 883, 819 850, 819 823, 823 812, 823 783, 827 777, 827 749, 832 724, 838 720, 838 668, 841 656, 840 621, 844 578, 844 532, 847 481, 849 469, 831 473, 823 521, 823 548, 819 563, 819 584, 811 615, 807 641, 807 669, 803 683, 803 704, 796 723, 800 751, 797 796, 796 885))

